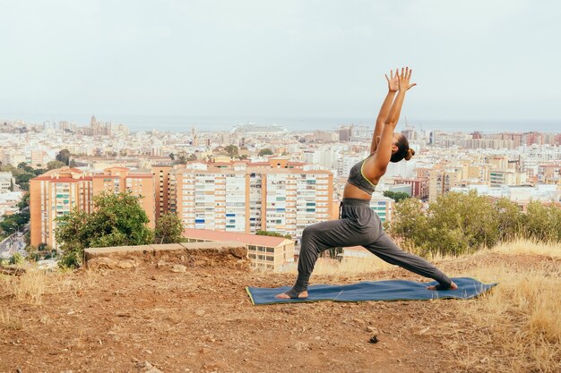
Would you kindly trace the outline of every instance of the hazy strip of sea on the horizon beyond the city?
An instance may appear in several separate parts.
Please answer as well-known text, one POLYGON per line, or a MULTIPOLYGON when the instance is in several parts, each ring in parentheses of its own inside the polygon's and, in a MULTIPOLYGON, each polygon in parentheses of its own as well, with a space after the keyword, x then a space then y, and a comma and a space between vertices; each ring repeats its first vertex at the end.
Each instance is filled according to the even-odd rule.
MULTIPOLYGON (((253 123, 260 126, 280 125, 288 131, 333 131, 340 125, 371 126, 375 118, 359 117, 263 117, 263 116, 190 116, 170 114, 95 114, 98 122, 125 124, 130 131, 230 131, 235 126, 253 123)), ((0 123, 4 121, 24 121, 25 123, 45 122, 73 122, 78 126, 87 126, 91 121, 91 114, 0 114, 0 123)), ((512 132, 561 132, 559 120, 454 120, 454 119, 426 119, 401 118, 398 131, 406 125, 416 130, 430 131, 480 131, 494 133, 512 132)))

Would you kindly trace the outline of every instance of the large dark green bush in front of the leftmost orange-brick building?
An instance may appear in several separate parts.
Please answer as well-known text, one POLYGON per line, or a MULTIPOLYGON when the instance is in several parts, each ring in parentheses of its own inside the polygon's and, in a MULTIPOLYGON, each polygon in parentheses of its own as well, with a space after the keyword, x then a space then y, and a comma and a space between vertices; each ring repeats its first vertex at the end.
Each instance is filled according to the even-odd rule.
POLYGON ((94 212, 74 209, 57 219, 56 241, 64 252, 61 267, 80 267, 83 250, 93 247, 143 245, 152 242, 148 216, 139 198, 128 192, 102 192, 93 198, 94 212))

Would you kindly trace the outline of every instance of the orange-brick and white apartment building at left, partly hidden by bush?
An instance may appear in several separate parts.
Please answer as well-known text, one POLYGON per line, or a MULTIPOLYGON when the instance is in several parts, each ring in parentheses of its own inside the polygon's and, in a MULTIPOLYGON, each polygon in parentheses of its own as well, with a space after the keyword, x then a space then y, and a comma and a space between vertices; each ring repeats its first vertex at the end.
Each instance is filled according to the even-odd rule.
POLYGON ((88 214, 93 210, 93 197, 102 191, 131 191, 141 196, 141 206, 154 226, 154 182, 151 174, 131 173, 125 167, 99 171, 82 171, 62 167, 30 180, 31 245, 39 243, 57 248, 56 218, 79 208, 88 214))

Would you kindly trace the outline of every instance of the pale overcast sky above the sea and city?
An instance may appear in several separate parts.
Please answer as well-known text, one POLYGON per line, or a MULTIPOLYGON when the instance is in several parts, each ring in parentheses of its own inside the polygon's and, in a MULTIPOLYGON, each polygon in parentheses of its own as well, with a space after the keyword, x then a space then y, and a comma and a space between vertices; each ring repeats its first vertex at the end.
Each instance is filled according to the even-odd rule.
POLYGON ((2 114, 561 119, 561 2, 0 0, 2 114))

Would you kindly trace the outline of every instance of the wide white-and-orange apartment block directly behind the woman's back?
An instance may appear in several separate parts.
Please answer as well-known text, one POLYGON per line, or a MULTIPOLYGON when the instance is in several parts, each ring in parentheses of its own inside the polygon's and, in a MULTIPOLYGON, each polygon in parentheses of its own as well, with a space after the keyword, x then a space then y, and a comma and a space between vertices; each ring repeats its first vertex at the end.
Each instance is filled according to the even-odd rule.
POLYGON ((333 198, 332 173, 303 165, 270 158, 175 168, 177 214, 186 228, 298 238, 307 225, 329 220, 333 198))

